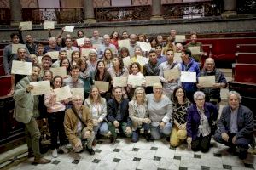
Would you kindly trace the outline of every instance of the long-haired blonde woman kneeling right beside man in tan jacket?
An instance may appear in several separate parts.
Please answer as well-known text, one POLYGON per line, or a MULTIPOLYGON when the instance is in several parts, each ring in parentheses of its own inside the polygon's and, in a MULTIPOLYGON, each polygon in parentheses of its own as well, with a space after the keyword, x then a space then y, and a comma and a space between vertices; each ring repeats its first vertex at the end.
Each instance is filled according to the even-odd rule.
MULTIPOLYGON (((100 90, 96 86, 90 88, 90 95, 85 99, 84 105, 89 107, 93 119, 93 131, 97 136, 98 133, 106 135, 108 133, 108 124, 106 122, 107 103, 106 99, 101 97, 100 90)), ((93 145, 96 141, 93 142, 93 145)))

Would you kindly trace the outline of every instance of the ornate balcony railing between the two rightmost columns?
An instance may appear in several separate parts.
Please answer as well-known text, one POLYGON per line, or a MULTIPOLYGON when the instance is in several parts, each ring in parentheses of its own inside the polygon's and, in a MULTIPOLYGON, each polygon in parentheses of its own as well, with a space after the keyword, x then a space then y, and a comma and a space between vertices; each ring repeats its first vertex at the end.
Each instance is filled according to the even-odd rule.
POLYGON ((162 4, 162 14, 165 19, 190 19, 220 15, 222 4, 214 2, 216 1, 162 4))

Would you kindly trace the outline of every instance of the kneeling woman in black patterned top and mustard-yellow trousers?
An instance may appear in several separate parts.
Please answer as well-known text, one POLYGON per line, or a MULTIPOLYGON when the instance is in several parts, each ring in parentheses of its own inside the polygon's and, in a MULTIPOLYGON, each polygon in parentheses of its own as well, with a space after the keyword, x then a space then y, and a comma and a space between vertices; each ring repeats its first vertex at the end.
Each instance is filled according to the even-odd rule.
POLYGON ((172 103, 172 133, 170 137, 170 144, 172 147, 177 147, 181 142, 187 138, 187 110, 189 108, 189 99, 183 87, 178 86, 173 90, 172 103))

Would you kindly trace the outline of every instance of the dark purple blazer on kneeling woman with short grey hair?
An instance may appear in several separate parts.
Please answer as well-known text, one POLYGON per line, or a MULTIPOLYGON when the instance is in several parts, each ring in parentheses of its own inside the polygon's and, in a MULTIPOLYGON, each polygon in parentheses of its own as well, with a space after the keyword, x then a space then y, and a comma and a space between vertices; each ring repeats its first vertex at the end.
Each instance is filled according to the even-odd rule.
MULTIPOLYGON (((212 121, 216 121, 218 117, 218 110, 215 105, 211 103, 205 103, 204 105, 205 116, 207 116, 208 123, 211 127, 212 121)), ((195 104, 190 105, 187 116, 187 134, 188 137, 192 137, 195 140, 198 133, 198 127, 200 125, 200 113, 197 111, 195 104)))

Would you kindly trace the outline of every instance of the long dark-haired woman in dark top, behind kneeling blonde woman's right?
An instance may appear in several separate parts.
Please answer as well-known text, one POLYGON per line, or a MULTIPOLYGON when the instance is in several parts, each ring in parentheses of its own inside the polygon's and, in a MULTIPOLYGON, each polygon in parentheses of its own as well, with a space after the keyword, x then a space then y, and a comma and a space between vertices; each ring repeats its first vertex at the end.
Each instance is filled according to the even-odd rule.
POLYGON ((102 81, 102 82, 109 82, 109 86, 108 86, 108 91, 101 91, 100 90, 100 94, 102 95, 102 98, 110 99, 111 98, 111 76, 108 73, 108 71, 105 68, 105 64, 103 62, 103 60, 98 60, 97 65, 96 65, 96 74, 94 77, 95 81, 102 81))

